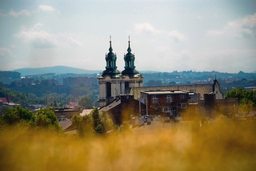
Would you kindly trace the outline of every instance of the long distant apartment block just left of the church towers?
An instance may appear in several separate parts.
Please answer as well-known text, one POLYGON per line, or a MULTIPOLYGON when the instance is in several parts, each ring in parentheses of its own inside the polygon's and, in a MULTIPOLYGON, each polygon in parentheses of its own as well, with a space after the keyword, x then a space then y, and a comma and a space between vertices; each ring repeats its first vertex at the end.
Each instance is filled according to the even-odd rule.
POLYGON ((88 77, 68 77, 63 78, 63 85, 70 86, 70 87, 77 87, 81 85, 90 86, 90 85, 97 85, 98 83, 97 78, 88 78, 88 77))

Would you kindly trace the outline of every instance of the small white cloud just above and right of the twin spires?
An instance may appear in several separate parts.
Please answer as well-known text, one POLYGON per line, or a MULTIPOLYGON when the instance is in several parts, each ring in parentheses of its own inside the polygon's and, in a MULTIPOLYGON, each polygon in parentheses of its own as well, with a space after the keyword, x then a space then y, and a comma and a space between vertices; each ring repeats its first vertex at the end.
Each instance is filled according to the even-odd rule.
POLYGON ((150 25, 150 23, 135 23, 134 30, 135 34, 142 34, 143 32, 147 32, 153 35, 167 36, 173 39, 175 42, 182 42, 188 39, 185 35, 181 34, 177 30, 166 31, 155 29, 152 25, 150 25))

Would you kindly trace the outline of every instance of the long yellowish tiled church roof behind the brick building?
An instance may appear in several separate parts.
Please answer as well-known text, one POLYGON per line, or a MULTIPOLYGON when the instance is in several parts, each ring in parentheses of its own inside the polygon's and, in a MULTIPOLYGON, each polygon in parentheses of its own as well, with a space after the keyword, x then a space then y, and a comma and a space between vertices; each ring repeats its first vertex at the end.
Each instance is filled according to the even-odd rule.
POLYGON ((150 86, 150 87, 132 87, 125 89, 125 94, 134 95, 134 99, 139 99, 140 92, 143 91, 170 91, 170 90, 183 90, 190 91, 195 90, 196 93, 201 94, 201 99, 204 98, 204 94, 212 93, 212 84, 192 84, 192 85, 170 85, 170 86, 150 86))

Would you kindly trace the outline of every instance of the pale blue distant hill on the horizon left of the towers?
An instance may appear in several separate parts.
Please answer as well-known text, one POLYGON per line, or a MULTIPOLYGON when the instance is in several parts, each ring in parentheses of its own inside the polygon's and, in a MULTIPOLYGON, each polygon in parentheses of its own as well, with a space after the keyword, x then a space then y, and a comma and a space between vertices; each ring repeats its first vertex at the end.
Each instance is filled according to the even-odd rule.
POLYGON ((55 66, 55 67, 43 67, 43 68, 21 68, 21 69, 15 69, 12 71, 20 72, 21 76, 27 76, 27 75, 41 75, 41 74, 47 74, 47 73, 55 73, 56 75, 59 74, 95 74, 102 72, 100 70, 85 70, 85 69, 79 69, 79 68, 73 68, 73 67, 66 67, 66 66, 55 66))

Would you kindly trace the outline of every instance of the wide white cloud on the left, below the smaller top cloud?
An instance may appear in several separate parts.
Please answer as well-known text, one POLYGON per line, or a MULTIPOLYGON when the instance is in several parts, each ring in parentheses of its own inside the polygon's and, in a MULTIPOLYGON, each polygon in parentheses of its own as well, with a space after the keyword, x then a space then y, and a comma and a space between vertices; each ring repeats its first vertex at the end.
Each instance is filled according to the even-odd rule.
POLYGON ((29 43, 35 48, 78 47, 82 45, 69 34, 50 34, 42 30, 42 27, 42 23, 37 23, 30 29, 21 26, 20 31, 14 37, 23 39, 23 42, 29 43))

